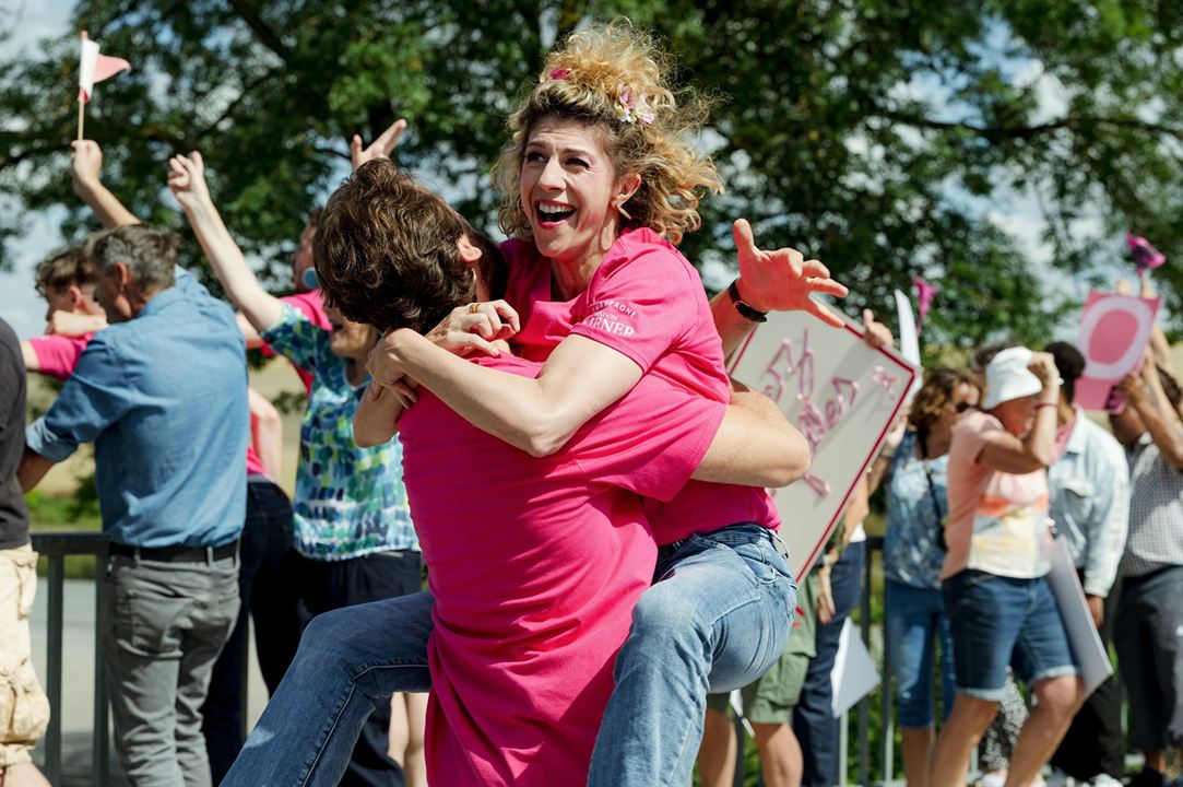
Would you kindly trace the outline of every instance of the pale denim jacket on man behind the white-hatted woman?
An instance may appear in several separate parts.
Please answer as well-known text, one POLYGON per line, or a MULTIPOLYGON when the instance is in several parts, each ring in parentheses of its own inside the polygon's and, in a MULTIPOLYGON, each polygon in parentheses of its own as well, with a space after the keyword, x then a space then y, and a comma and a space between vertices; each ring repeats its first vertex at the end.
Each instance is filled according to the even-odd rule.
POLYGON ((1077 409, 1064 453, 1047 473, 1048 516, 1084 569, 1085 593, 1105 598, 1130 525, 1130 467, 1112 434, 1077 409))

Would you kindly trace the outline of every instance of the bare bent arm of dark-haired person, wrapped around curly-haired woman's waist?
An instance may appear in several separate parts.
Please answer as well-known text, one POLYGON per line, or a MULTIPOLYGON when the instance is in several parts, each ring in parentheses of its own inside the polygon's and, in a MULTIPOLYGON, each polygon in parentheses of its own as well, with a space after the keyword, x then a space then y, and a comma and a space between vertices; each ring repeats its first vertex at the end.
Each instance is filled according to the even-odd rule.
POLYGON ((788 486, 809 471, 809 444, 768 396, 733 382, 711 446, 692 478, 744 486, 788 486))

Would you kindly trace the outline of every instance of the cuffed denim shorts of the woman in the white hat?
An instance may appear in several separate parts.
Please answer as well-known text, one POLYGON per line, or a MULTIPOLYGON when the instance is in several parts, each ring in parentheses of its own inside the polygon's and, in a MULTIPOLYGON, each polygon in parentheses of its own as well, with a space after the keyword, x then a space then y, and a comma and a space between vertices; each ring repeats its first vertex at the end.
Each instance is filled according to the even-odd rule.
POLYGON ((1060 608, 1042 576, 1013 579, 965 569, 946 579, 942 591, 961 694, 1001 702, 1008 665, 1028 686, 1079 672, 1060 608))

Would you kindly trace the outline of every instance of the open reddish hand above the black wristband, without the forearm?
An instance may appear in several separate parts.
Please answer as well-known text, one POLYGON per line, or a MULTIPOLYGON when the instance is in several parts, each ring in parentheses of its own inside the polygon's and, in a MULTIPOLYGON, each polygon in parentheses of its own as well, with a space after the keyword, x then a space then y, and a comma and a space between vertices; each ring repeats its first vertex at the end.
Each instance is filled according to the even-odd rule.
POLYGON ((752 309, 807 311, 835 328, 845 324, 841 317, 812 297, 846 297, 846 286, 829 277, 829 269, 816 259, 804 259, 794 249, 757 249, 746 219, 737 219, 732 232, 739 257, 739 295, 752 309))

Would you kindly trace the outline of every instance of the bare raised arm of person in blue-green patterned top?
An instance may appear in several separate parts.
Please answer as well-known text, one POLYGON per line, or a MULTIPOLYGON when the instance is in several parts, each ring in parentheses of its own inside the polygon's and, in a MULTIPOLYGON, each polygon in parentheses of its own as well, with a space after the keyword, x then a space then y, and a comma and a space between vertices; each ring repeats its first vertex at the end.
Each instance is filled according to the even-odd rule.
POLYGON ((243 250, 238 247, 221 220, 218 208, 209 199, 206 187, 205 165, 200 153, 192 156, 173 156, 168 165, 168 187, 181 204, 193 233, 206 252, 206 258, 218 275, 226 295, 246 320, 258 331, 264 331, 279 322, 283 304, 259 284, 254 271, 246 264, 243 250))

